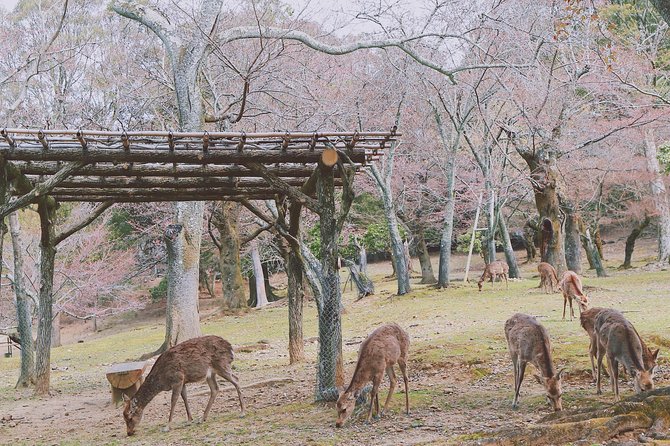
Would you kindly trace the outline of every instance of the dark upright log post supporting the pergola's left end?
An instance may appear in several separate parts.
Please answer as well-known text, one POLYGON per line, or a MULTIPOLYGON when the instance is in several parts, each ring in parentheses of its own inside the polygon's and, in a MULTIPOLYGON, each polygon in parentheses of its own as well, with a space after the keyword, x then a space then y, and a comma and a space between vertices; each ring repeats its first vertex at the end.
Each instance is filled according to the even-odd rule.
POLYGON ((40 215, 40 293, 37 314, 35 393, 49 393, 51 380, 51 323, 53 320, 53 278, 56 261, 56 206, 42 197, 37 206, 40 215))

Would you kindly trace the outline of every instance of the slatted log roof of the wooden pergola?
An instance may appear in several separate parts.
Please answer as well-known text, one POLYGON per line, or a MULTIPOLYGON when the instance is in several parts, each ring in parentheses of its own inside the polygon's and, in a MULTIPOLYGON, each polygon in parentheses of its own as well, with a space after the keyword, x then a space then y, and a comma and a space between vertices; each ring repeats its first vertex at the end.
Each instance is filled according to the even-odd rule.
MULTIPOLYGON (((388 132, 110 132, 0 130, 11 195, 33 186, 57 201, 205 201, 291 195, 317 165, 359 169, 388 132)), ((337 168, 335 176, 340 177, 337 168)), ((341 180, 336 180, 336 185, 341 180)), ((33 200, 34 201, 34 200, 33 200)), ((3 203, 6 204, 6 203, 3 203)), ((25 203, 27 204, 27 203, 25 203)))

